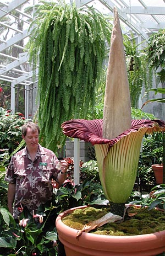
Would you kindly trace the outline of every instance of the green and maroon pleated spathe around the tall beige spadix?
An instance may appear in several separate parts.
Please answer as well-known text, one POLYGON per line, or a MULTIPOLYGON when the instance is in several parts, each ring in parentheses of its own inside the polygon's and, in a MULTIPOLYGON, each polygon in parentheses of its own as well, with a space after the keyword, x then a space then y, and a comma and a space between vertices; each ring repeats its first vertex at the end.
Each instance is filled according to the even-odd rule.
POLYGON ((63 122, 65 135, 95 145, 101 184, 109 201, 125 202, 136 179, 142 137, 165 130, 162 120, 132 120, 131 129, 108 140, 102 137, 103 120, 73 119, 63 122))

